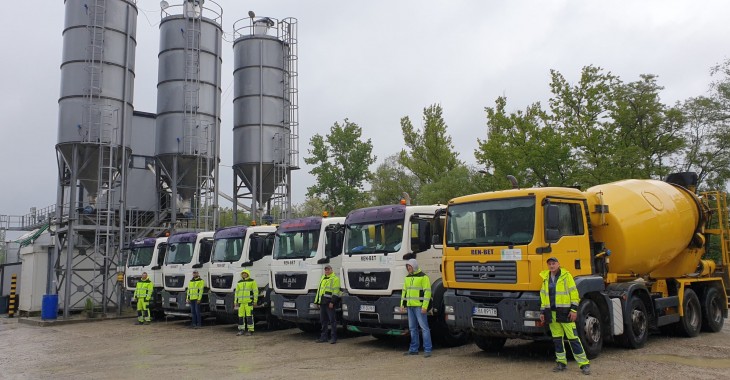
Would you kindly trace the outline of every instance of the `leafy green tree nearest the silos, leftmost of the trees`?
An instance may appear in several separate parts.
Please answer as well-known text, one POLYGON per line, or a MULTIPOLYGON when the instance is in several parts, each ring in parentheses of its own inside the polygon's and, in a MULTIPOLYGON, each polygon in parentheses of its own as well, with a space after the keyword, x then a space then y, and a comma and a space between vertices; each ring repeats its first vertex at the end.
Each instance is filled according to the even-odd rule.
POLYGON ((307 196, 332 205, 335 215, 367 204, 363 184, 372 179, 369 167, 376 157, 370 139, 361 141, 361 136, 362 129, 345 119, 335 122, 327 136, 316 134, 310 140, 311 156, 304 162, 314 166, 309 173, 316 183, 307 188, 307 196))

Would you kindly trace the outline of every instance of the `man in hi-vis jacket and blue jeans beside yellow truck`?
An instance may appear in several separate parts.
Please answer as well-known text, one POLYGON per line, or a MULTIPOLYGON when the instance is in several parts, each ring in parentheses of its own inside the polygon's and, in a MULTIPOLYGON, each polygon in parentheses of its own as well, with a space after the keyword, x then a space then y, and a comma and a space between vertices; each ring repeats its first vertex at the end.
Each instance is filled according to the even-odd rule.
POLYGON ((403 355, 418 355, 420 341, 418 327, 423 333, 423 357, 431 357, 431 330, 428 328, 428 304, 431 300, 431 280, 418 267, 416 259, 406 262, 408 275, 403 282, 401 312, 408 312, 408 329, 411 331, 411 345, 403 355))

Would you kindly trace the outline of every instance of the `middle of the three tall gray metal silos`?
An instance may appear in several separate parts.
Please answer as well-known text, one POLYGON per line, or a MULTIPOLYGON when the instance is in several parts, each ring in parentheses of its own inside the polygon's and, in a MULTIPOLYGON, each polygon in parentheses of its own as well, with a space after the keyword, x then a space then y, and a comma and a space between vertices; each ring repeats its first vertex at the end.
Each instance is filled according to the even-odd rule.
POLYGON ((155 154, 160 218, 173 228, 179 216, 192 228, 217 225, 222 13, 210 0, 162 9, 155 154))

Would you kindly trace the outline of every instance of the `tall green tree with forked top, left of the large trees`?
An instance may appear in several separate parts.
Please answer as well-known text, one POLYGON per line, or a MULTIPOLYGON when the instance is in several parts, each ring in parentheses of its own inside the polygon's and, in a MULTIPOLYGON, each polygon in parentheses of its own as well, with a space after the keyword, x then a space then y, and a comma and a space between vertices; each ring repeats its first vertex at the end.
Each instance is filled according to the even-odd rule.
POLYGON ((416 130, 408 116, 401 118, 400 125, 407 149, 400 152, 398 161, 421 184, 437 182, 445 173, 462 165, 454 151, 451 136, 446 134, 447 126, 440 105, 423 109, 422 130, 416 130))

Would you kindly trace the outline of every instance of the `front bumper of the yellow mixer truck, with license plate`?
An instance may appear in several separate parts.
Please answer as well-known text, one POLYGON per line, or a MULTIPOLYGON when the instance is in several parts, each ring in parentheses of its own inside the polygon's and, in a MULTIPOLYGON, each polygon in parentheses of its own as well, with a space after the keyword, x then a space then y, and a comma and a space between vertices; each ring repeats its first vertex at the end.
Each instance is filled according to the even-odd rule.
POLYGON ((448 289, 444 294, 444 310, 449 327, 468 329, 476 335, 549 338, 539 320, 538 293, 448 289), (526 316, 526 312, 531 315, 526 316))

